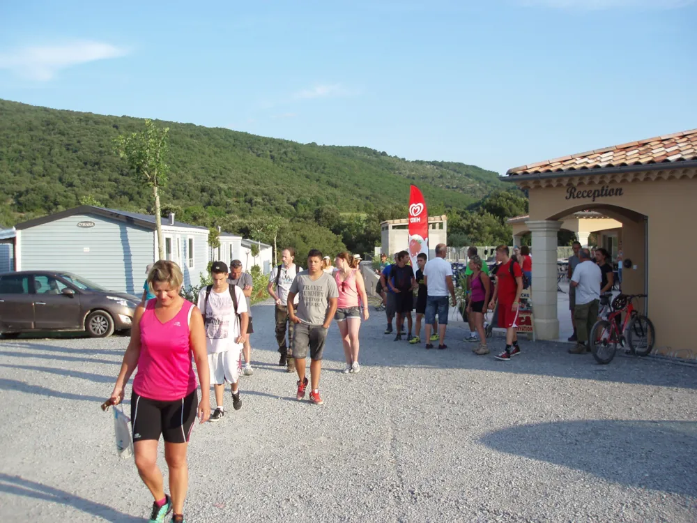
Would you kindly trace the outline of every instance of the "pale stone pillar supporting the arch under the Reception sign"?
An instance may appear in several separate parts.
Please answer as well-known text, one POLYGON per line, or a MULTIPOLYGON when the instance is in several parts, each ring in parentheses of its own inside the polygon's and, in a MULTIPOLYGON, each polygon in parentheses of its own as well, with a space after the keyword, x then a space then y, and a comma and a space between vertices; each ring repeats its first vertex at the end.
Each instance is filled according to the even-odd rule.
POLYGON ((526 224, 533 236, 532 297, 535 335, 539 340, 557 340, 557 233, 562 222, 530 220, 526 224))

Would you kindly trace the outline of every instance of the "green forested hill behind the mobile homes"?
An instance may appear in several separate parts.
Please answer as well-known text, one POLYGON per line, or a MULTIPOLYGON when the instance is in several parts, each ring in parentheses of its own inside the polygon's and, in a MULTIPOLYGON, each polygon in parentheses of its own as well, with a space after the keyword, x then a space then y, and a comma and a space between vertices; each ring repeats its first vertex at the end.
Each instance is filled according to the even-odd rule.
MULTIPOLYGON (((442 213, 508 188, 495 172, 460 163, 412 162, 364 147, 298 144, 189 123, 158 125, 170 128, 171 174, 162 202, 201 225, 240 229, 252 214, 317 224, 318 210, 332 215, 329 222, 335 212, 375 220, 404 215, 410 183, 420 186, 432 214, 442 213)), ((0 100, 0 225, 68 209, 85 197, 151 211, 151 190, 113 144, 143 128, 143 120, 128 116, 0 100)))

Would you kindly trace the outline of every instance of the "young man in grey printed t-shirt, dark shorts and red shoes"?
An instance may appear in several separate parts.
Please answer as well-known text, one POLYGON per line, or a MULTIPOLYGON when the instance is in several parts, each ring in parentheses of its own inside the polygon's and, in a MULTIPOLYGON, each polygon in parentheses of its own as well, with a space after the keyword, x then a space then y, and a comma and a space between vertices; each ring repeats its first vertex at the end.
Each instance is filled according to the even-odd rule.
POLYGON ((288 293, 288 315, 293 329, 293 359, 298 372, 298 401, 305 397, 307 378, 305 377, 305 358, 309 349, 312 359, 309 370, 312 390, 309 400, 316 405, 323 404, 319 395, 319 375, 322 372, 322 352, 327 339, 327 331, 332 324, 339 302, 339 289, 332 276, 322 271, 322 253, 312 249, 307 255, 307 271, 299 273, 288 293), (293 301, 298 296, 298 304, 293 301))

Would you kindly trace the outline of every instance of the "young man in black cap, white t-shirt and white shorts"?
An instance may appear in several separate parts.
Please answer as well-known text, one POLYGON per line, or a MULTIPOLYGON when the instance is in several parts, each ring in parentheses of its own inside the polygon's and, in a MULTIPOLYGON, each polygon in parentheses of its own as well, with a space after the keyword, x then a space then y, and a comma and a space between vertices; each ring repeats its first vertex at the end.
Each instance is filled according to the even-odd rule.
POLYGON ((243 345, 247 342, 247 324, 250 318, 244 292, 237 285, 228 283, 227 265, 222 261, 214 261, 210 275, 213 285, 199 291, 198 305, 204 316, 210 382, 215 390, 216 408, 210 415, 210 420, 217 421, 225 415, 222 405, 225 381, 232 386, 233 408, 236 411, 242 408, 238 388, 240 356, 243 345))

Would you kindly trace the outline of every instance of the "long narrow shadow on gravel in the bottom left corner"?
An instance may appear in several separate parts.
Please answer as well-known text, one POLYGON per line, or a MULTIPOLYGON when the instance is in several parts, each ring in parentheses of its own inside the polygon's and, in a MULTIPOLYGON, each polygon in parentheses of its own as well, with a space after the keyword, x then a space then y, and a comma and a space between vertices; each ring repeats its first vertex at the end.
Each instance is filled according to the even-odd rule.
POLYGON ((52 501, 54 503, 59 503, 59 505, 68 505, 77 508, 77 510, 82 510, 84 513, 115 523, 141 523, 144 521, 141 517, 133 517, 124 514, 111 507, 102 505, 102 503, 96 503, 89 499, 77 497, 65 490, 59 490, 41 483, 36 483, 36 481, 26 480, 20 478, 20 476, 9 476, 8 474, 0 473, 0 492, 40 499, 42 501, 52 501))

